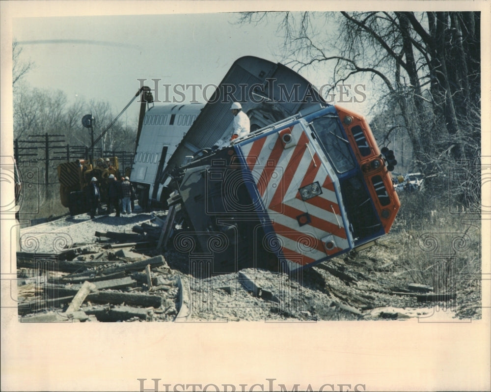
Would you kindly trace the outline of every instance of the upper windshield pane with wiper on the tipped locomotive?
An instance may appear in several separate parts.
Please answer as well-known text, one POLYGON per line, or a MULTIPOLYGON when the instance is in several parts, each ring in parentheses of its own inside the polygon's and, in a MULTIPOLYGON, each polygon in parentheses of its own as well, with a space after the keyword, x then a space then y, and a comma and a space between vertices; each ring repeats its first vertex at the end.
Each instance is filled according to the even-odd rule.
POLYGON ((311 126, 329 161, 338 173, 355 168, 355 159, 350 152, 350 142, 339 125, 337 116, 314 119, 311 126))

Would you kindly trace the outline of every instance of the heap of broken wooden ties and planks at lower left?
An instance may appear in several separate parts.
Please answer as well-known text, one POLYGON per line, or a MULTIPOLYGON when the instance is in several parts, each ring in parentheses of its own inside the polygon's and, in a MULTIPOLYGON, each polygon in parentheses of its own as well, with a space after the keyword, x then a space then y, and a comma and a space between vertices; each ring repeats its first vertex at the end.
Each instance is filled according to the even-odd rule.
MULTIPOLYGON (((160 230, 158 226, 157 229, 160 230)), ((123 234, 118 236, 109 232, 109 236, 114 238, 130 238, 123 234)), ((164 256, 148 257, 134 252, 127 245, 110 244, 109 249, 103 249, 100 245, 78 246, 57 254, 42 255, 19 252, 18 267, 36 273, 32 278, 19 280, 19 284, 28 283, 19 286, 18 313, 22 321, 152 321, 154 313, 150 309, 159 309, 155 313, 157 318, 167 319, 168 316, 173 319, 177 314, 174 298, 178 288, 175 280, 158 279, 160 274, 168 278, 171 273, 164 256), (154 277, 152 268, 159 268, 154 277), (69 275, 51 276, 53 270, 69 275), (145 292, 137 292, 143 291, 143 287, 137 287, 141 275, 147 283, 145 292), (152 278, 160 284, 152 287, 152 278), (88 303, 106 306, 94 308, 88 303)))

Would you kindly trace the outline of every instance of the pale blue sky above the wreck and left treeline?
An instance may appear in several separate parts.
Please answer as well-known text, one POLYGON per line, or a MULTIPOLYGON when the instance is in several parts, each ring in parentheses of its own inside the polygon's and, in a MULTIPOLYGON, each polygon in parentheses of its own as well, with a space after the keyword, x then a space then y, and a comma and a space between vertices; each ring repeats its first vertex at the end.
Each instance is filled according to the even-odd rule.
MULTIPOLYGON (((116 114, 138 79, 150 87, 154 78, 161 85, 218 84, 241 56, 281 61, 283 39, 272 16, 258 26, 237 25, 238 13, 16 18, 13 38, 35 64, 28 85, 59 88, 70 101, 108 101, 116 114)), ((331 77, 316 69, 302 75, 317 86, 331 77)), ((137 111, 135 103, 122 119, 135 122, 137 111)))

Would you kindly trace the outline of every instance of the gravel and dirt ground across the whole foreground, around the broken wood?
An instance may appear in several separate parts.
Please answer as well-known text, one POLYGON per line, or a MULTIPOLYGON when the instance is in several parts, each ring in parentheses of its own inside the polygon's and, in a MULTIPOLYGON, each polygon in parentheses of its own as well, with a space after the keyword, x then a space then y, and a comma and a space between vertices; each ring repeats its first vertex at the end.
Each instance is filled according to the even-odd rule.
MULTIPOLYGON (((135 213, 119 218, 105 216, 95 221, 90 221, 82 215, 71 219, 71 224, 80 223, 75 226, 64 227, 61 223, 58 226, 55 223, 32 226, 21 232, 21 245, 24 248, 22 251, 49 253, 53 252, 55 247, 67 249, 80 243, 97 245, 100 238, 95 236, 96 231, 131 233, 135 224, 147 222, 156 216, 155 214, 160 214, 161 219, 165 218, 163 212, 135 213)), ((113 304, 107 304, 105 316, 103 320, 99 317, 99 321, 316 322, 480 319, 478 230, 467 230, 464 234, 454 235, 451 238, 452 244, 455 238, 461 237, 465 237, 466 244, 459 243, 459 246, 450 247, 454 252, 445 253, 436 252, 439 248, 433 246, 433 242, 448 242, 448 230, 440 228, 430 236, 431 241, 426 238, 429 232, 418 233, 407 230, 407 226, 396 227, 369 249, 336 257, 291 276, 255 269, 230 274, 212 275, 206 271, 201 275, 191 274, 192 268, 195 270, 206 267, 196 267, 196 264, 193 267, 192 262, 195 261, 192 261, 192 257, 177 252, 172 246, 172 241, 169 241, 169 246, 163 252, 164 266, 154 268, 151 272, 155 287, 148 286, 144 271, 127 271, 126 279, 131 277, 133 287, 114 291, 160 295, 163 298, 162 305, 142 313, 143 316, 133 309, 133 313, 127 311, 126 317, 117 319, 116 316, 108 316, 108 309, 111 308, 113 313, 115 310, 122 310, 115 309, 113 304)), ((102 245, 104 244, 99 243, 99 246, 102 245)), ((142 257, 162 254, 155 249, 132 251, 142 252, 142 257)), ((96 276, 101 268, 109 271, 129 261, 118 260, 115 256, 116 251, 104 252, 99 254, 104 254, 104 257, 109 255, 112 261, 108 261, 107 265, 88 269, 85 274, 94 273, 96 276)), ((74 260, 90 261, 93 257, 81 255, 74 260)), ((18 271, 19 276, 22 276, 23 272, 18 271)), ((56 279, 60 276, 63 275, 58 274, 55 278, 57 283, 56 279)), ((71 277, 72 275, 68 275, 67 279, 67 275, 63 276, 57 287, 73 290, 80 288, 80 284, 74 284, 74 280, 70 280, 71 277)), ((43 289, 39 287, 39 281, 26 279, 21 284, 21 301, 39 298, 36 295, 39 296, 39 290, 43 289), (38 286, 32 288, 28 284, 38 286)), ((44 290, 46 291, 46 287, 44 290)), ((101 306, 89 301, 88 304, 84 303, 81 309, 87 314, 93 312, 100 315, 101 306)), ((124 303, 119 307, 121 306, 124 306, 124 303)), ((63 311, 66 307, 67 304, 60 304, 58 310, 63 311)), ((47 311, 48 309, 42 310, 47 311)), ((27 318, 30 315, 23 314, 22 317, 27 318)), ((92 318, 92 321, 95 321, 95 318, 92 318)))

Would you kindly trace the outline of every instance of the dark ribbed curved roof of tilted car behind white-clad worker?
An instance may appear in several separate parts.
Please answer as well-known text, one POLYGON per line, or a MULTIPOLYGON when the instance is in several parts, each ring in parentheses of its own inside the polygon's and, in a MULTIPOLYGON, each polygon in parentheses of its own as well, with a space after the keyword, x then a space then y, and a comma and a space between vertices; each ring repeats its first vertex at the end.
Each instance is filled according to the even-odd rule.
POLYGON ((287 66, 264 58, 238 58, 216 88, 199 116, 169 159, 166 172, 180 166, 195 150, 211 147, 230 128, 232 102, 242 104, 244 112, 268 106, 283 118, 320 103, 329 106, 311 83, 287 66), (235 91, 235 94, 230 93, 235 91))

